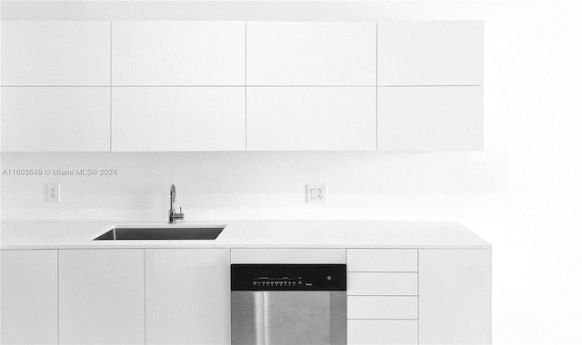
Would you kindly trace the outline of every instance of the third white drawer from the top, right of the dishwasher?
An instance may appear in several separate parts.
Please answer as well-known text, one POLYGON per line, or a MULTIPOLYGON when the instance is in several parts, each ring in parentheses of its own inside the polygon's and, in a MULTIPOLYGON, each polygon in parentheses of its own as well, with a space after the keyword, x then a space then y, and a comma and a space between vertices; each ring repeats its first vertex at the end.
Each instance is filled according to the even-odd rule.
POLYGON ((348 296, 347 319, 418 318, 416 296, 348 296))

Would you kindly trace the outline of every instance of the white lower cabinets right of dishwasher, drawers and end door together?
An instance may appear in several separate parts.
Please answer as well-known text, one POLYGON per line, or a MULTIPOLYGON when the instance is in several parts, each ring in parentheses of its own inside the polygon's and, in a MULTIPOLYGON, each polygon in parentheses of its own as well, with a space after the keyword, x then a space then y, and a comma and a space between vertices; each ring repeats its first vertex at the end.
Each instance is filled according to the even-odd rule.
POLYGON ((491 343, 490 250, 348 249, 346 261, 348 344, 491 343))

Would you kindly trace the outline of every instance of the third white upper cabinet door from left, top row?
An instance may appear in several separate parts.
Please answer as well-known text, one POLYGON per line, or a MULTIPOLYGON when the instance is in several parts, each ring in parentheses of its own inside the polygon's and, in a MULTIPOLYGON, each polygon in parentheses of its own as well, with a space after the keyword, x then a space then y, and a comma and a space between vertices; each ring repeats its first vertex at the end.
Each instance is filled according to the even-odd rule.
POLYGON ((248 23, 248 85, 376 85, 376 23, 248 23))

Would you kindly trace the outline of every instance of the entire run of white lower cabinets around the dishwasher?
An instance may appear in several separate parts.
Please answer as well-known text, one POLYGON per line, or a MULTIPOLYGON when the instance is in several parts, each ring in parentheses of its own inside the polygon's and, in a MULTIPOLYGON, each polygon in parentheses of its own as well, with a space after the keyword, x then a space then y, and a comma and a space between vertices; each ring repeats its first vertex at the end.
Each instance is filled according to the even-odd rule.
POLYGON ((2 344, 227 345, 231 261, 307 263, 297 258, 346 262, 349 345, 491 343, 488 249, 0 254, 2 344))

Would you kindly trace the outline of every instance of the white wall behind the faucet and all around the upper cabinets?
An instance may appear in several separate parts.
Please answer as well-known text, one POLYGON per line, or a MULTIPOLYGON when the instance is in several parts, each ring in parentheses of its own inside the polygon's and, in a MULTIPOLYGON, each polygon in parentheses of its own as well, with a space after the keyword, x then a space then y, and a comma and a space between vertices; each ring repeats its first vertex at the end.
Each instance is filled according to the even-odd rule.
POLYGON ((26 153, 3 168, 116 168, 2 178, 2 219, 456 220, 494 245, 495 343, 582 343, 582 2, 4 2, 4 19, 486 21, 477 153, 26 153), (83 5, 85 4, 85 5, 83 5), (44 202, 61 182, 62 202, 44 202), (305 203, 326 182, 328 202, 305 203))

